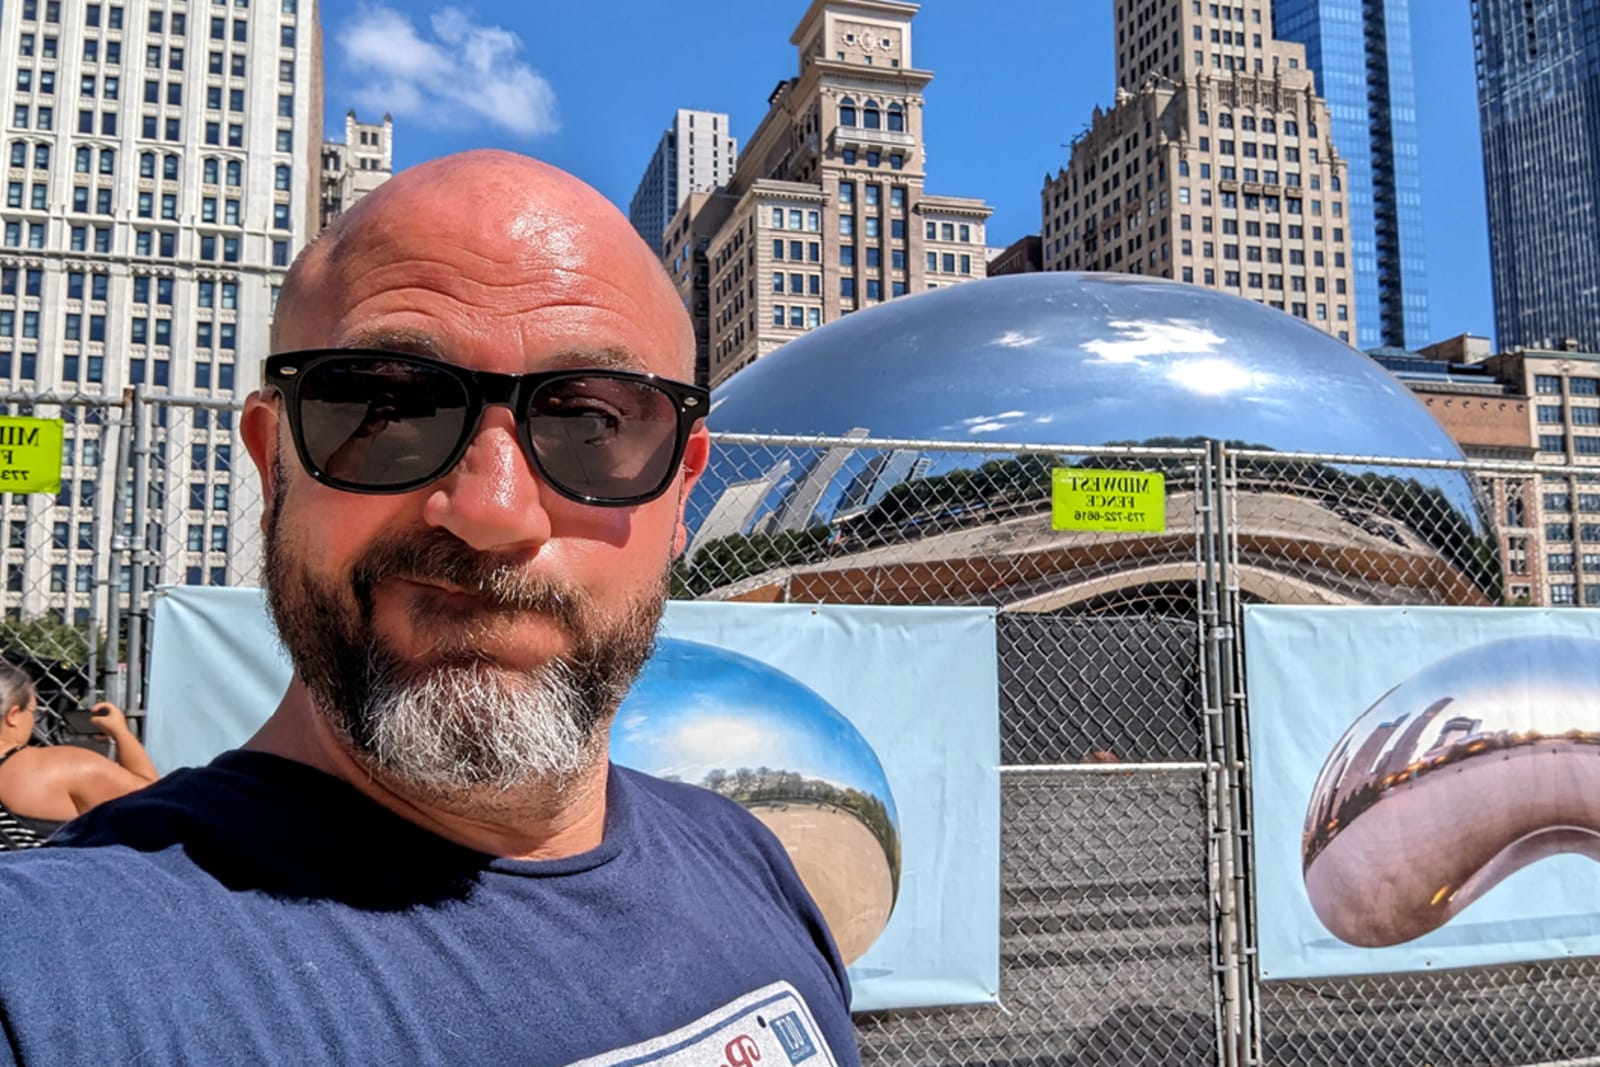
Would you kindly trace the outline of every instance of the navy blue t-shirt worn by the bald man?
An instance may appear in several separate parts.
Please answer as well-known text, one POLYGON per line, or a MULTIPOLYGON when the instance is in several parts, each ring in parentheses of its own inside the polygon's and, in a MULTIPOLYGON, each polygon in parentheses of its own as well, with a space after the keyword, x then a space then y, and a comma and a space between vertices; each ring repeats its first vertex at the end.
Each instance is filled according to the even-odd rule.
POLYGON ((605 838, 464 849, 230 752, 0 856, 0 1062, 858 1062, 782 845, 613 766, 605 838))

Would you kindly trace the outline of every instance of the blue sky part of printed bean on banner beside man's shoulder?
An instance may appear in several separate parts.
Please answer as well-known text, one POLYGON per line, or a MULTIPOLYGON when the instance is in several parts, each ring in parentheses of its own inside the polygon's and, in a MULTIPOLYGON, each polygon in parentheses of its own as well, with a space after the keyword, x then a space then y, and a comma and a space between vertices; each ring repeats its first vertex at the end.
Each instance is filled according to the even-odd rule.
POLYGON ((710 769, 795 771, 894 801, 877 755, 832 704, 739 653, 662 638, 611 728, 611 758, 699 784, 710 769))

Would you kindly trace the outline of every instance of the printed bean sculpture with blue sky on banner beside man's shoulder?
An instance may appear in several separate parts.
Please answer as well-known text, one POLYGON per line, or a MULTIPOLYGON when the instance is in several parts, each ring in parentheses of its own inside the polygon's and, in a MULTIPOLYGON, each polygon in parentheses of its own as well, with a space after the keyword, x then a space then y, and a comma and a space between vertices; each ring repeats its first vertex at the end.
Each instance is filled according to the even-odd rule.
POLYGON ((744 805, 789 849, 840 953, 888 925, 899 816, 866 737, 790 675, 699 641, 661 638, 611 728, 611 758, 744 805))

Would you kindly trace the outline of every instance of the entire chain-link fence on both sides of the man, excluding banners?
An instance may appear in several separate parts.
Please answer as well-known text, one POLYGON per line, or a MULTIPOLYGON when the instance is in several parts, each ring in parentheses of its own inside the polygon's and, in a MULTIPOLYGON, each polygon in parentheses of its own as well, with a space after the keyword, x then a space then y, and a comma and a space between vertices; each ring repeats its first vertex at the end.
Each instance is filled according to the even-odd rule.
MULTIPOLYGON (((5 498, 5 654, 138 710, 154 589, 259 579, 237 406, 5 400, 67 422, 61 494, 5 498)), ((677 597, 998 609, 998 1003, 864 1016, 869 1062, 1600 1054, 1592 960, 1259 979, 1237 637, 1256 601, 1600 606, 1600 467, 722 435, 688 526, 677 597), (1056 530, 1058 469, 1162 474, 1162 528, 1056 530)))

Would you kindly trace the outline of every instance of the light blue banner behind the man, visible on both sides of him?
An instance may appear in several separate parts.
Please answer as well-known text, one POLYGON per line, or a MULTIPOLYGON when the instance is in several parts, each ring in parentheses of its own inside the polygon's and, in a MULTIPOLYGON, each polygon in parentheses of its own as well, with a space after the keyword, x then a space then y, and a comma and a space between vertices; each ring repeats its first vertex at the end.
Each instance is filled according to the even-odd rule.
MULTIPOLYGON (((163 589, 150 757, 238 745, 288 677, 258 590, 163 589)), ((997 1000, 992 609, 670 601, 611 755, 778 833, 851 961, 856 1011, 997 1000)))

